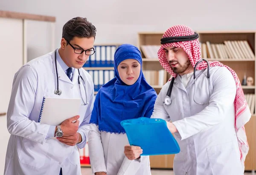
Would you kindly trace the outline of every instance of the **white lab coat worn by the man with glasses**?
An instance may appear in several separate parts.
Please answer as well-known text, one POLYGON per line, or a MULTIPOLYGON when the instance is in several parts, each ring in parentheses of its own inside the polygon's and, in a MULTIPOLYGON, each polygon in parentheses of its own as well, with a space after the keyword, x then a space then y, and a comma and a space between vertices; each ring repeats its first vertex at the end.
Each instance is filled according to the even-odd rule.
MULTIPOLYGON (((61 96, 54 94, 57 87, 54 52, 33 59, 15 74, 7 112, 7 127, 11 136, 4 175, 58 175, 61 167, 64 175, 81 174, 77 147, 84 147, 87 140, 94 102, 93 81, 90 74, 81 68, 88 96, 88 104, 81 105, 79 112, 78 132, 82 142, 77 146, 62 144, 57 139, 46 138, 50 126, 38 123, 44 96, 81 98, 78 70, 74 70, 71 82, 58 62, 57 68, 61 96)), ((82 93, 85 93, 84 88, 82 93)), ((54 136, 54 130, 49 130, 49 133, 54 136)))

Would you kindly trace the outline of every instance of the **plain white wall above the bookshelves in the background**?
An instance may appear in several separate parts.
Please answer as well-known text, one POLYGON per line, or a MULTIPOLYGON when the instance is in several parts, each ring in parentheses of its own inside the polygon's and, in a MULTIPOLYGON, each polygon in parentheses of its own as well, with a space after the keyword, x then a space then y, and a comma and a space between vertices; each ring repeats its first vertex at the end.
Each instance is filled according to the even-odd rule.
POLYGON ((175 24, 194 30, 256 30, 255 7, 255 0, 0 0, 0 10, 55 16, 55 47, 63 25, 77 16, 96 26, 95 43, 136 45, 137 32, 165 31, 175 24))

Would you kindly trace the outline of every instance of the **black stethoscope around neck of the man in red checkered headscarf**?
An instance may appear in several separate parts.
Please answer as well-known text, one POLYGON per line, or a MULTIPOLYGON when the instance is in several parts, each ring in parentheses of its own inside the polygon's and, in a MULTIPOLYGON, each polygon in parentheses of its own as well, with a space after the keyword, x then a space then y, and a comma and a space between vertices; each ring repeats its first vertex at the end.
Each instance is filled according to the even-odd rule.
MULTIPOLYGON (((195 67, 194 67, 194 84, 195 84, 195 70, 196 70, 196 67, 198 65, 198 63, 202 62, 202 61, 205 61, 207 62, 207 79, 208 79, 208 90, 209 90, 209 77, 210 77, 210 73, 209 73, 209 68, 210 68, 210 65, 209 65, 209 62, 206 60, 206 59, 201 59, 200 61, 198 61, 196 64, 195 64, 195 67)), ((172 80, 171 80, 171 83, 169 85, 169 88, 168 88, 168 91, 167 91, 167 94, 166 94, 166 98, 163 100, 163 104, 169 106, 172 104, 172 99, 171 99, 171 94, 172 94, 172 87, 173 87, 173 83, 174 83, 174 80, 175 78, 172 77, 172 80)), ((204 102, 201 102, 201 103, 198 103, 195 101, 195 89, 196 89, 196 86, 194 88, 194 97, 193 97, 193 100, 196 104, 201 104, 201 105, 204 105, 204 104, 209 104, 209 102, 207 103, 204 103, 204 102)), ((210 94, 210 93, 209 93, 210 94)))

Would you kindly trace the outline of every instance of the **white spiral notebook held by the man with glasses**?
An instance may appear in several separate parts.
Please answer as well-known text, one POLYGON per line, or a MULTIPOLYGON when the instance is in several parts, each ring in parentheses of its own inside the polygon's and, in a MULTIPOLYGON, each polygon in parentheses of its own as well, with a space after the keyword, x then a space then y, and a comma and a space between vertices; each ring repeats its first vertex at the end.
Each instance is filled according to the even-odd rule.
POLYGON ((70 117, 79 115, 81 99, 44 97, 38 122, 57 126, 70 117))

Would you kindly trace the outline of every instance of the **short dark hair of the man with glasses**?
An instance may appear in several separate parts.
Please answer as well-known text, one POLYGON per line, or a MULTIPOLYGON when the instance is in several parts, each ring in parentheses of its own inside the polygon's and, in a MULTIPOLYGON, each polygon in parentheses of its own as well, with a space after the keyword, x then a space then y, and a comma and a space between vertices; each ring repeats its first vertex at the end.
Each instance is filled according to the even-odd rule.
POLYGON ((90 38, 96 36, 96 28, 87 18, 75 17, 69 20, 62 29, 62 38, 67 41, 73 40, 73 37, 90 38))

